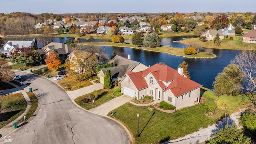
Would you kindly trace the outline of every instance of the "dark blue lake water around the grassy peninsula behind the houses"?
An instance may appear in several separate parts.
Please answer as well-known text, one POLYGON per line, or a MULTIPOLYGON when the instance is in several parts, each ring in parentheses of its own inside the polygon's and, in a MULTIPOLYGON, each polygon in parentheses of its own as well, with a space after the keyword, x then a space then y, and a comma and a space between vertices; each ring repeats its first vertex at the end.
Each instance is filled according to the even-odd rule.
MULTIPOLYGON (((167 37, 161 38, 161 45, 172 46, 174 48, 186 48, 185 44, 181 44, 179 41, 184 38, 191 38, 194 36, 177 36, 177 37, 167 37)), ((68 37, 54 37, 54 42, 66 42, 68 37)), ((70 38, 74 40, 74 38, 70 38)), ((78 39, 79 42, 88 42, 86 39, 78 39)), ((129 40, 127 40, 129 42, 129 40)), ((93 42, 111 42, 111 40, 94 40, 93 42)), ((138 50, 134 48, 127 47, 113 47, 113 46, 100 46, 105 49, 105 52, 112 55, 113 50, 118 52, 124 52, 131 55, 131 59, 141 62, 142 64, 149 66, 156 63, 162 62, 174 69, 178 69, 179 64, 185 61, 188 64, 188 72, 190 72, 191 80, 202 84, 206 88, 212 88, 212 82, 219 72, 222 72, 223 68, 230 63, 236 54, 241 52, 241 50, 220 50, 213 49, 214 54, 217 58, 208 59, 193 59, 184 58, 179 56, 173 56, 170 54, 160 53, 160 52, 150 52, 146 50, 138 50)))

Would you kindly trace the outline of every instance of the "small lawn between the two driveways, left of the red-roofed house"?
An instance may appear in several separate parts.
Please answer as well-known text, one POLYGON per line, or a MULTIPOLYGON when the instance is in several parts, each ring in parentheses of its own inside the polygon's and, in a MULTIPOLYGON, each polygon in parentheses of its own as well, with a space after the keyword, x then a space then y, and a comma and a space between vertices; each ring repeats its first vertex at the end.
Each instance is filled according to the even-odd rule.
POLYGON ((87 104, 83 104, 83 99, 84 98, 89 98, 90 94, 93 94, 93 92, 90 93, 90 94, 80 96, 80 97, 76 98, 74 101, 79 106, 81 106, 82 108, 84 108, 86 110, 89 110, 89 109, 95 108, 97 106, 100 106, 101 104, 104 104, 105 102, 115 98, 114 96, 112 96, 113 93, 114 93, 114 88, 112 88, 112 89, 102 89, 102 90, 98 90, 99 96, 98 96, 98 99, 96 99, 95 102, 90 102, 90 103, 87 103, 87 104))

